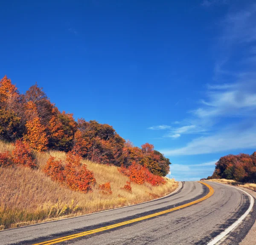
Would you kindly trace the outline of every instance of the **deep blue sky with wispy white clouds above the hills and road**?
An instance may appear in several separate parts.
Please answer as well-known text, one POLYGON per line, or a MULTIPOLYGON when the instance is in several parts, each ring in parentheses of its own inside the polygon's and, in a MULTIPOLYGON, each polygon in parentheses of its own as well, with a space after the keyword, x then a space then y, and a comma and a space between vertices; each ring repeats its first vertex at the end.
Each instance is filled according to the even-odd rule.
POLYGON ((256 150, 255 1, 1 1, 0 76, 198 180, 256 150))

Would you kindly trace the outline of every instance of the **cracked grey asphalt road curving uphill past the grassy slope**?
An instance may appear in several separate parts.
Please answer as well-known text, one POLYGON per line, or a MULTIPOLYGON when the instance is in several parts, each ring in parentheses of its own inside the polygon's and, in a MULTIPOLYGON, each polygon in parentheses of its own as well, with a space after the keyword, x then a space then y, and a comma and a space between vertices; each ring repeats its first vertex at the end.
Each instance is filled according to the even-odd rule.
MULTIPOLYGON (((206 245, 251 205, 250 197, 239 189, 207 184, 210 189, 200 182, 184 182, 177 193, 151 202, 0 231, 0 244, 206 245)), ((250 214, 250 220, 244 219, 229 233, 230 244, 238 244, 250 230, 256 218, 255 203, 250 214)))

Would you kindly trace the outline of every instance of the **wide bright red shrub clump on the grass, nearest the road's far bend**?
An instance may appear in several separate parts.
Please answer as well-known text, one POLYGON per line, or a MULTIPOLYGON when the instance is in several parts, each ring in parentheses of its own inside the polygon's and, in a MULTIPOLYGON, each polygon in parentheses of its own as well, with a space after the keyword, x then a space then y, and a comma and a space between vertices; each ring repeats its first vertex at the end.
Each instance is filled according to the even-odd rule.
POLYGON ((122 166, 119 171, 128 176, 132 182, 139 185, 142 185, 145 182, 148 182, 151 185, 163 185, 166 183, 162 177, 151 174, 148 171, 148 168, 137 164, 136 162, 132 162, 128 168, 122 166))

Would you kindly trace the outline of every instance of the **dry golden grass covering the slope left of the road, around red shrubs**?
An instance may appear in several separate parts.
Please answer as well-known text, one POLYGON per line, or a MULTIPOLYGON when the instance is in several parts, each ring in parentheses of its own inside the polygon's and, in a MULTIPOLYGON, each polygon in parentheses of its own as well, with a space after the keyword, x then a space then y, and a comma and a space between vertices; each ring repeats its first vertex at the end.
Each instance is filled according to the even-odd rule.
MULTIPOLYGON (((0 142, 0 152, 12 151, 13 146, 0 142)), ((41 171, 49 155, 65 158, 65 153, 35 152, 38 169, 0 168, 0 229, 15 228, 38 222, 89 214, 125 205, 145 202, 174 191, 178 184, 167 179, 166 185, 151 186, 131 183, 132 193, 121 189, 128 177, 115 166, 101 165, 83 160, 96 178, 93 192, 83 194, 71 191, 53 182, 41 171), (98 185, 111 182, 112 195, 103 195, 98 185)))

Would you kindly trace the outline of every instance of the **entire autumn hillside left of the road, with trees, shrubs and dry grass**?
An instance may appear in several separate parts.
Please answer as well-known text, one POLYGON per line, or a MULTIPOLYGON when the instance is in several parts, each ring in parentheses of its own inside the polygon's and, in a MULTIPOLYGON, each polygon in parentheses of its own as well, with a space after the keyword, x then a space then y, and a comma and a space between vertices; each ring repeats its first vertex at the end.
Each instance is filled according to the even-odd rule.
POLYGON ((89 214, 177 188, 169 159, 112 126, 74 120, 42 88, 0 80, 0 229, 89 214))

